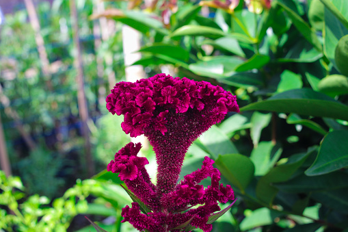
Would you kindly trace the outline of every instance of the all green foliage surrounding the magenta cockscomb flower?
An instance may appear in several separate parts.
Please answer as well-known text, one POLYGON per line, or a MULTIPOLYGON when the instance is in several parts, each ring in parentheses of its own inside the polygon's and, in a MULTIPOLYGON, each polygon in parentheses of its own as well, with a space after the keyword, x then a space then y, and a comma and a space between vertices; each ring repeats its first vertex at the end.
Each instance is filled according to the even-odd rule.
MULTIPOLYGON (((142 34, 142 58, 135 64, 149 76, 170 70, 219 84, 239 99, 241 113, 226 116, 194 142, 181 175, 200 168, 209 155, 223 183, 235 190, 237 203, 214 222, 213 231, 347 231, 348 2, 275 0, 269 9, 250 2, 254 5, 246 8, 240 1, 232 12, 222 5, 207 8, 204 1, 160 1, 152 10, 139 1, 130 1, 131 9, 126 2, 108 2, 108 9, 118 10, 93 18, 112 18, 117 30, 96 50, 94 21, 88 18, 94 2, 77 1, 97 166, 103 170, 128 140, 120 136, 122 118, 105 116, 98 101, 105 98, 101 86, 109 87, 105 76, 97 78, 95 60, 112 54, 105 69, 124 77, 120 27, 126 24, 142 34)), ((120 224, 120 209, 131 199, 118 177, 103 171, 72 187, 75 179, 85 178, 85 169, 79 159, 83 145, 67 12, 66 0, 38 7, 49 59, 59 64, 50 92, 26 12, 7 16, 1 28, 1 86, 39 149, 21 149, 21 138, 1 108, 12 168, 34 195, 24 194, 18 178, 2 175, 0 227, 29 231, 40 224, 42 231, 64 231, 77 214, 90 214, 108 231, 132 231, 120 224), (61 148, 52 136, 57 128, 61 148), (57 229, 49 227, 53 222, 57 229)), ((151 149, 144 153, 153 159, 151 149)))

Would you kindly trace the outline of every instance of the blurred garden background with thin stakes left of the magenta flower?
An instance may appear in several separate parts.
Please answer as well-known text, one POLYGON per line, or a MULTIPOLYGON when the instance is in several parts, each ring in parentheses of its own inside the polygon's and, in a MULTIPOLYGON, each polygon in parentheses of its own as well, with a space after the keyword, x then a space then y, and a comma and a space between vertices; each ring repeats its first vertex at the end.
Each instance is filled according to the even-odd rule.
POLYGON ((1 146, 31 194, 62 195, 129 140, 105 116, 124 55, 121 25, 104 18, 103 37, 101 22, 89 18, 103 4, 0 1, 1 146))

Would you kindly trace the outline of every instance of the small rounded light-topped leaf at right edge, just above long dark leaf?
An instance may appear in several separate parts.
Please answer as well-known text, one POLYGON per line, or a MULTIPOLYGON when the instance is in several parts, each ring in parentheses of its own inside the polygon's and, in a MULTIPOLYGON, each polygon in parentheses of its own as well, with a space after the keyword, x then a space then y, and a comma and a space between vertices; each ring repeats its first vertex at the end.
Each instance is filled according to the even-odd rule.
POLYGON ((330 75, 318 83, 320 92, 330 94, 332 96, 348 94, 348 77, 343 75, 330 75))

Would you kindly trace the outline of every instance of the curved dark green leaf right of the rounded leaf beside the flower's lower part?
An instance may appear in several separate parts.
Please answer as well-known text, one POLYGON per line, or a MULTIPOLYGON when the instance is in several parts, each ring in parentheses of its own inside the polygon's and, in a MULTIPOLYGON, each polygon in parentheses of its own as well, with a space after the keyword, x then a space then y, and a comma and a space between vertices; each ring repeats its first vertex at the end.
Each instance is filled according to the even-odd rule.
POLYGON ((256 185, 256 197, 271 205, 273 198, 278 193, 278 189, 273 186, 273 183, 284 182, 290 179, 295 171, 302 166, 310 152, 306 154, 293 155, 293 160, 286 164, 276 166, 258 180, 256 185))

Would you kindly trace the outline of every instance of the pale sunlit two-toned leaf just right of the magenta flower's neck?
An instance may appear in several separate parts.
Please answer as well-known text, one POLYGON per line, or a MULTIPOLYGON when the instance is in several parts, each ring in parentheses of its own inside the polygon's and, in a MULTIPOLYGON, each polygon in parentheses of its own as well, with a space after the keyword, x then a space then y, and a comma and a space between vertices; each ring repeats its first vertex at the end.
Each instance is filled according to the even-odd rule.
POLYGON ((230 138, 215 125, 204 132, 199 140, 206 150, 211 153, 214 159, 220 154, 238 153, 235 145, 230 141, 230 138))

